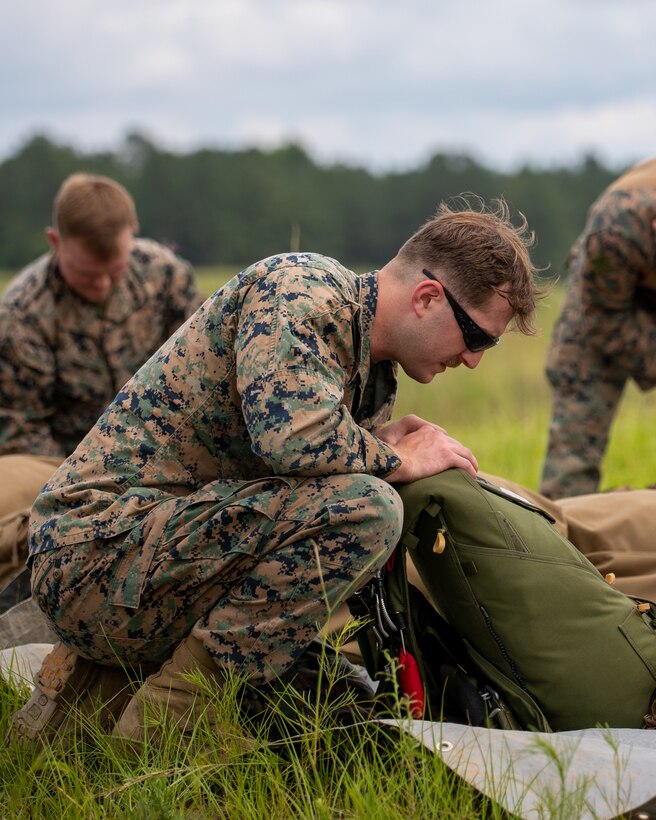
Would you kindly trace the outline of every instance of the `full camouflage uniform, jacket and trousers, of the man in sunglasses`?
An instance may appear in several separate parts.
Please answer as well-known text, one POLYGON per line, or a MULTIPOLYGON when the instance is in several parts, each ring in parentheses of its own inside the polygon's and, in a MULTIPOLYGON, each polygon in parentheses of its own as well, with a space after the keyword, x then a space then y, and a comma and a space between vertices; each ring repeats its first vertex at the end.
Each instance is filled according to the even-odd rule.
POLYGON ((33 508, 33 594, 66 645, 161 662, 191 633, 270 680, 386 560, 402 507, 371 432, 396 394, 370 360, 376 299, 375 272, 271 257, 118 393, 33 508))

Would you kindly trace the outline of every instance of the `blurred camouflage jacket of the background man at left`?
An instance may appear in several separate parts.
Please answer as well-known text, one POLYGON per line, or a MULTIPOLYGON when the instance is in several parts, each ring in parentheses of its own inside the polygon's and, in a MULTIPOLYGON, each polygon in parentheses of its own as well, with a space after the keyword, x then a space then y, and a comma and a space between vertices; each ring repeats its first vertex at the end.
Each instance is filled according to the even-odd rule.
POLYGON ((21 271, 0 299, 0 455, 69 455, 201 301, 190 265, 148 239, 103 306, 73 293, 50 254, 21 271))

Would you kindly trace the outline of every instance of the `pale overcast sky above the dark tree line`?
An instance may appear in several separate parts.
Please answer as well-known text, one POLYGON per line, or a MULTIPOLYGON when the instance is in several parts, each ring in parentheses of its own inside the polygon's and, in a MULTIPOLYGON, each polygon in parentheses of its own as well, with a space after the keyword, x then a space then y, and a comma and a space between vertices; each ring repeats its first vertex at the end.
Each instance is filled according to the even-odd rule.
POLYGON ((296 141, 320 162, 656 154, 655 0, 3 0, 0 159, 296 141))

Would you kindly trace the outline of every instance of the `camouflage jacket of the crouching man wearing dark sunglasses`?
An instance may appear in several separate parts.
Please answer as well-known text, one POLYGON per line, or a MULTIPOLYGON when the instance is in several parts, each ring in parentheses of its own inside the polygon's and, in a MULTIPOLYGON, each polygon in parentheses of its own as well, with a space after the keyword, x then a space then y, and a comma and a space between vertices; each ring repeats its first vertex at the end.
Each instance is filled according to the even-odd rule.
MULTIPOLYGON (((273 256, 210 297, 118 393, 38 497, 31 553, 126 532, 161 501, 248 496, 266 476, 369 473, 400 460, 396 364, 374 364, 377 273, 273 256)), ((253 499, 266 510, 267 499, 253 499)))

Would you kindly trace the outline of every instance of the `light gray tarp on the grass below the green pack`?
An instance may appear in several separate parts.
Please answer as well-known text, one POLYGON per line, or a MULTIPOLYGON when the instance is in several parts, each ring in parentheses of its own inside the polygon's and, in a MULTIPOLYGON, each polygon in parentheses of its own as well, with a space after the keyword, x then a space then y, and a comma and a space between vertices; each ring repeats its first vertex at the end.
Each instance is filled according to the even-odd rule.
MULTIPOLYGON (((546 734, 422 720, 400 726, 517 817, 613 818, 656 797, 656 731, 546 734)), ((656 817, 654 810, 644 817, 656 817)))

